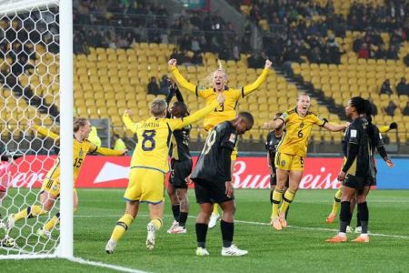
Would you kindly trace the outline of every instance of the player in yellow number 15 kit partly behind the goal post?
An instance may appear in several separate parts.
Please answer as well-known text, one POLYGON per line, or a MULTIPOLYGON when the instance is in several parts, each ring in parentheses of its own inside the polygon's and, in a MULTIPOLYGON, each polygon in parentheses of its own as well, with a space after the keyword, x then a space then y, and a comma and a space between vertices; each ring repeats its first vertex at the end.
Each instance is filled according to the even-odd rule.
MULTIPOLYGON (((55 142, 59 142, 60 136, 51 130, 35 125, 34 121, 29 121, 28 126, 43 136, 51 137, 55 142)), ((123 156, 126 150, 116 151, 106 147, 96 147, 86 138, 91 131, 91 125, 85 117, 74 118, 74 141, 73 141, 73 157, 74 157, 74 183, 78 177, 81 167, 84 163, 85 157, 88 153, 98 153, 104 156, 123 156)), ((55 165, 45 176, 43 185, 41 187, 39 202, 40 205, 26 207, 15 215, 10 215, 7 220, 7 229, 15 226, 15 222, 25 218, 38 217, 48 213, 54 206, 55 200, 60 196, 60 159, 55 160, 55 165)), ((74 211, 78 209, 78 196, 76 194, 74 185, 74 211)), ((50 219, 43 228, 37 230, 37 234, 41 237, 50 238, 51 230, 59 222, 59 212, 50 219)))

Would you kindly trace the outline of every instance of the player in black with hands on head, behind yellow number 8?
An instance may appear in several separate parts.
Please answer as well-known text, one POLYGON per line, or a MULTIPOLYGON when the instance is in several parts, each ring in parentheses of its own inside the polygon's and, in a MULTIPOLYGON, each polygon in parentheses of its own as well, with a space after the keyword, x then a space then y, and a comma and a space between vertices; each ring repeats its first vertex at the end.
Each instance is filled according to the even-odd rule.
MULTIPOLYGON (((168 117, 183 118, 187 116, 187 106, 175 83, 169 87, 169 94, 166 96, 167 105, 170 104, 173 96, 176 96, 177 101, 170 107, 168 117)), ((191 129, 191 125, 184 126, 182 129, 175 130, 172 136, 171 175, 166 191, 171 201, 175 221, 167 233, 186 233, 186 220, 189 214, 186 178, 192 172, 192 156, 189 150, 191 129)))

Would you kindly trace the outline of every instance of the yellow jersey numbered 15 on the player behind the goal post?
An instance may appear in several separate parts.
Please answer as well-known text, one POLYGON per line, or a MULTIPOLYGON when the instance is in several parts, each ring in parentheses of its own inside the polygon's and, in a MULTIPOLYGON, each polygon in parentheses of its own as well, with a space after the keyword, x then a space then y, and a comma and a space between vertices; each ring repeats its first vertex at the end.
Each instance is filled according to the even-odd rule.
MULTIPOLYGON (((51 137, 55 140, 55 142, 60 141, 60 136, 52 132, 51 130, 42 127, 42 126, 33 126, 33 128, 43 136, 51 137)), ((73 141, 73 158, 74 158, 74 183, 76 178, 78 177, 81 167, 83 166, 85 157, 88 153, 98 153, 104 156, 122 156, 122 151, 115 151, 110 148, 105 147, 96 147, 92 144, 88 139, 84 139, 82 142, 76 140, 74 137, 73 141)), ((60 179, 60 158, 57 157, 55 160, 55 165, 52 167, 45 178, 53 181, 58 181, 60 179)))

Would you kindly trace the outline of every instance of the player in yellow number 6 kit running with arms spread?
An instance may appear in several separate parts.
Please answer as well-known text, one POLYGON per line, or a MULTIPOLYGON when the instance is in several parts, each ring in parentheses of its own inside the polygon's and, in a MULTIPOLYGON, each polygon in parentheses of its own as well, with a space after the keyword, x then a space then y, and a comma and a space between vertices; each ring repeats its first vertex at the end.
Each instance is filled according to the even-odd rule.
POLYGON ((326 122, 313 112, 308 111, 311 106, 310 96, 302 94, 298 96, 294 108, 284 112, 279 119, 264 124, 264 128, 275 129, 284 126, 286 132, 275 155, 275 166, 277 167, 277 186, 273 193, 272 220, 271 225, 281 230, 286 227, 285 212, 293 201, 295 193, 303 177, 304 158, 307 152, 308 140, 314 125, 323 126, 332 132, 344 130, 347 125, 334 125, 326 122), (290 187, 285 191, 287 178, 290 178, 290 187), (278 209, 280 202, 283 203, 278 209))

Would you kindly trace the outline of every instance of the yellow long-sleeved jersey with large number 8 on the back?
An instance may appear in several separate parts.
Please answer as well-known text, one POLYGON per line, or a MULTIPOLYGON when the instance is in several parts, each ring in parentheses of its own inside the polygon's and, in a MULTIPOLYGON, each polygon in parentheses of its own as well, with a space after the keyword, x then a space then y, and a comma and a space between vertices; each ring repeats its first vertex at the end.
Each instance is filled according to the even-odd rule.
POLYGON ((209 106, 183 118, 156 118, 154 116, 134 123, 124 114, 125 126, 136 134, 136 146, 131 159, 132 167, 155 169, 163 173, 169 171, 168 154, 172 132, 205 117, 214 107, 218 106, 214 100, 209 106))

